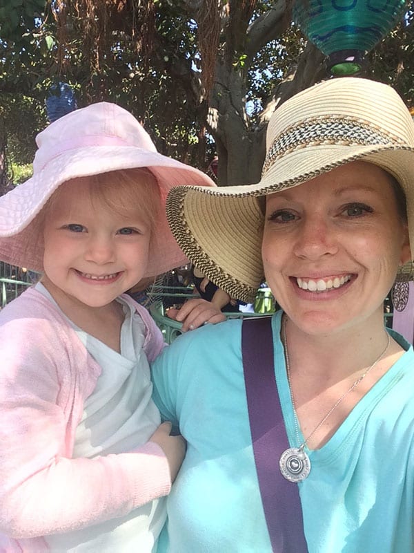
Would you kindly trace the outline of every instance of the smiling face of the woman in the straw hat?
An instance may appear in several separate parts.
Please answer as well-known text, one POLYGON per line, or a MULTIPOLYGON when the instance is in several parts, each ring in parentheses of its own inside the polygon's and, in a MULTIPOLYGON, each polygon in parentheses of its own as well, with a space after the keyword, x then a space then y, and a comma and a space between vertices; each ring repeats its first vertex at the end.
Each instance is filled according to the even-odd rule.
POLYGON ((278 303, 305 332, 382 321, 397 267, 410 259, 386 172, 351 162, 267 196, 262 258, 278 303))

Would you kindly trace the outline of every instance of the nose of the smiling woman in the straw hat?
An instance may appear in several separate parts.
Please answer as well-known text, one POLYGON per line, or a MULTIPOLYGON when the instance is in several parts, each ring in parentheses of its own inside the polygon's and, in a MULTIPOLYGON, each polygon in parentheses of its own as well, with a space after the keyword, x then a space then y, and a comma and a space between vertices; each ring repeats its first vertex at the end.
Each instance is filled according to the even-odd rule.
POLYGON ((297 232, 294 254, 307 259, 318 259, 338 250, 333 226, 321 216, 304 218, 297 232))

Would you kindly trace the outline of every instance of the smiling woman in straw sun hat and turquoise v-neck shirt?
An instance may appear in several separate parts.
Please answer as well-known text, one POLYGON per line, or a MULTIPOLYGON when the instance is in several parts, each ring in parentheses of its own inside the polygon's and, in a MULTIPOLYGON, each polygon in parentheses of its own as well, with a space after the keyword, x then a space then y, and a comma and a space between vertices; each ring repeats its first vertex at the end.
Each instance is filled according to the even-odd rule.
POLYGON ((414 551, 414 354, 383 317, 411 265, 413 181, 414 123, 400 97, 342 78, 275 112, 257 185, 172 191, 169 222, 189 259, 244 301, 265 277, 282 310, 268 339, 246 345, 250 322, 227 321, 155 362, 155 402, 188 442, 166 550, 414 551), (282 448, 267 441, 277 427, 268 386, 255 418, 244 378, 253 357, 259 388, 269 364, 258 357, 271 346, 282 448), (272 480, 287 487, 269 509, 272 480), (288 498, 297 490, 298 527, 288 498))

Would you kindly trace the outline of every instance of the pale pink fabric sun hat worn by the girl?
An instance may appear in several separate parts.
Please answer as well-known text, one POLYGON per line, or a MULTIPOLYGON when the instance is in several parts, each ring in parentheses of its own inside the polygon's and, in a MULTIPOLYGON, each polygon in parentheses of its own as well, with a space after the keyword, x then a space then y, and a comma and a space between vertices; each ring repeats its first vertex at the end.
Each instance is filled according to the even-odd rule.
POLYGON ((197 169, 162 156, 150 136, 126 110, 99 102, 56 120, 36 138, 33 176, 0 197, 0 259, 32 270, 43 269, 43 244, 30 240, 34 219, 63 182, 81 176, 148 167, 157 179, 162 208, 155 224, 145 277, 187 262, 172 237, 165 215, 168 191, 177 185, 215 187, 197 169))

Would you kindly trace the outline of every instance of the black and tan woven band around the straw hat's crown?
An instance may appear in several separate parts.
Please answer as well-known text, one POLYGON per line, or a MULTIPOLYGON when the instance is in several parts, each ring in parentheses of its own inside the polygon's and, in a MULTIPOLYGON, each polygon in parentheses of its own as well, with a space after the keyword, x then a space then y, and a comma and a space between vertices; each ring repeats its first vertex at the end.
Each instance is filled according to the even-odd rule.
POLYGON ((262 178, 277 159, 305 146, 326 144, 341 146, 382 144, 385 146, 403 143, 401 138, 384 132, 384 129, 375 128, 372 123, 343 115, 324 115, 290 126, 273 140, 264 160, 262 178))

